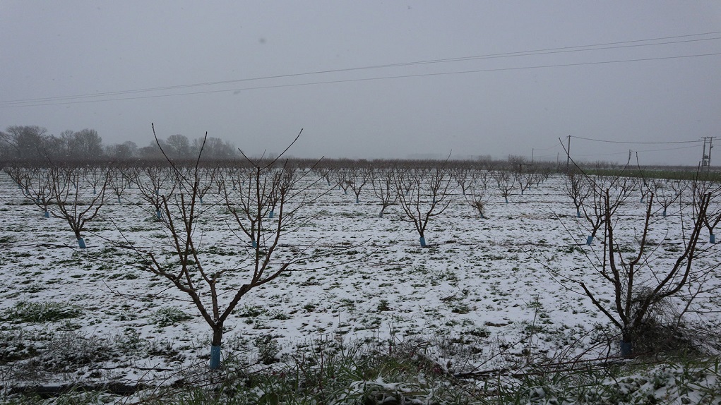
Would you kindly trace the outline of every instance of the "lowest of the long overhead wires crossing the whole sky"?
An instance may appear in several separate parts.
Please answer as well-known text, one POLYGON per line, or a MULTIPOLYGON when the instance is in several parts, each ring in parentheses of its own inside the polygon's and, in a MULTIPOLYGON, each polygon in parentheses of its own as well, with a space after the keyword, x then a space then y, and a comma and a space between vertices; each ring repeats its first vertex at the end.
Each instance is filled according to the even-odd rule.
MULTIPOLYGON (((598 61, 598 62, 580 62, 580 63, 559 63, 555 65, 539 65, 539 66, 518 66, 513 68, 488 68, 488 69, 475 69, 475 70, 469 70, 469 71, 451 71, 451 72, 440 72, 440 73, 430 73, 430 74, 407 74, 407 75, 398 75, 398 76, 380 76, 380 77, 371 77, 371 78, 363 78, 363 79, 340 79, 340 80, 329 80, 329 81, 313 81, 313 82, 306 82, 306 83, 296 83, 296 84, 275 84, 275 85, 268 85, 268 86, 254 86, 254 87, 244 87, 239 89, 221 89, 221 90, 207 90, 203 92, 186 92, 186 93, 176 93, 176 94, 156 94, 151 96, 138 96, 138 97, 116 97, 116 98, 110 98, 110 99, 94 99, 94 100, 83 100, 83 101, 68 101, 68 102, 0 102, 0 108, 12 108, 12 107, 40 107, 40 106, 48 106, 48 105, 64 105, 64 104, 83 104, 83 103, 89 103, 89 102, 111 102, 111 101, 120 101, 120 100, 134 100, 134 99, 151 99, 151 98, 158 98, 158 97, 172 97, 172 96, 185 96, 185 95, 193 95, 193 94, 212 94, 212 93, 224 93, 224 92, 241 92, 241 91, 247 91, 247 90, 258 90, 258 89, 280 89, 283 87, 296 87, 296 86, 314 86, 318 84, 338 84, 338 83, 353 83, 358 81, 375 81, 375 80, 387 80, 387 79, 407 79, 407 78, 415 78, 415 77, 428 77, 428 76, 446 76, 451 74, 473 74, 473 73, 488 73, 488 72, 496 72, 496 71, 518 71, 518 70, 527 70, 527 69, 537 69, 537 68, 560 68, 560 67, 570 67, 570 66, 593 66, 593 65, 603 65, 603 64, 610 64, 610 63, 629 63, 629 62, 645 62, 645 61, 664 61, 664 60, 671 60, 671 59, 682 59, 682 58, 700 58, 700 57, 706 57, 706 56, 717 56, 721 55, 721 52, 719 53, 702 53, 702 54, 696 54, 696 55, 677 55, 677 56, 662 56, 658 58, 638 58, 638 59, 624 59, 624 60, 618 60, 618 61, 598 61), (13 105, 13 103, 15 105, 13 105), (7 105, 2 105, 7 104, 7 105)), ((120 93, 113 93, 113 94, 120 94, 120 93)), ((99 97, 98 96, 81 96, 81 97, 99 97)), ((65 98, 72 98, 72 97, 65 97, 65 98)), ((75 97, 80 98, 80 97, 75 97)), ((574 138, 580 138, 580 137, 574 137, 574 138)), ((586 139, 586 138, 580 138, 580 139, 586 139)), ((590 141, 599 141, 590 139, 590 141)), ((606 142, 606 141, 601 141, 606 142)))

